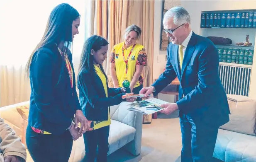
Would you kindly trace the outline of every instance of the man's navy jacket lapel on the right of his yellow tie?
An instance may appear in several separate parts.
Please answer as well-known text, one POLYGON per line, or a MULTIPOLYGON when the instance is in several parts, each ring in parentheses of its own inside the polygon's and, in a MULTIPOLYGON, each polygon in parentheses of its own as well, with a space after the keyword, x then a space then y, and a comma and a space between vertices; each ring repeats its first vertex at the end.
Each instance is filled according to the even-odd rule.
POLYGON ((190 61, 190 58, 193 55, 193 52, 195 51, 195 47, 194 47, 195 42, 196 42, 196 38, 195 38, 195 33, 193 32, 193 34, 188 42, 186 51, 185 51, 185 53, 183 53, 184 58, 183 58, 183 63, 182 63, 182 68, 181 68, 181 75, 180 75, 181 78, 182 78, 184 69, 188 65, 188 62, 190 61))

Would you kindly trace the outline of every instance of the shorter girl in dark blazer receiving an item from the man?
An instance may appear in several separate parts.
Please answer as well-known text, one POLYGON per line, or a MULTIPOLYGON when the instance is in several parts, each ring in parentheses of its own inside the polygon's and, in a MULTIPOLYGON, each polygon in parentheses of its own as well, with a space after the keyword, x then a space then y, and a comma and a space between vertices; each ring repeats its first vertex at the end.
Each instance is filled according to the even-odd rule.
MULTIPOLYGON (((101 36, 85 41, 78 73, 80 104, 86 118, 91 121, 90 131, 83 134, 84 162, 107 162, 109 150, 110 106, 120 104, 124 88, 109 88, 102 63, 107 58, 108 42, 101 36), (96 154, 98 150, 98 154, 96 154)), ((135 98, 127 99, 134 102, 135 98)))

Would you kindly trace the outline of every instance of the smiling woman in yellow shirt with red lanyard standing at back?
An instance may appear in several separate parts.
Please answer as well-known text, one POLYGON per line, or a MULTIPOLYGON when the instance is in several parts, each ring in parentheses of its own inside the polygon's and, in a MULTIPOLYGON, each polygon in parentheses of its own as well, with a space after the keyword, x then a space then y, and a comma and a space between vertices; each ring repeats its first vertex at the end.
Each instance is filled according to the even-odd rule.
MULTIPOLYGON (((124 42, 116 44, 111 53, 110 75, 114 87, 122 87, 124 80, 129 80, 131 93, 139 94, 144 81, 141 75, 146 66, 146 50, 137 40, 141 35, 141 29, 137 25, 127 27, 124 34, 124 42)), ((141 98, 138 97, 137 101, 141 98)))

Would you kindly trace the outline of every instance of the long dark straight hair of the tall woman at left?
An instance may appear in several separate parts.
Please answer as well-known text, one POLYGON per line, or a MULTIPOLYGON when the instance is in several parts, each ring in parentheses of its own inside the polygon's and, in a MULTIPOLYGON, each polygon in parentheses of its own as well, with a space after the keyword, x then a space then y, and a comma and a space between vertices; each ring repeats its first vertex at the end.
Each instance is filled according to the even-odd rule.
POLYGON ((43 46, 49 44, 59 44, 64 41, 63 52, 71 49, 72 42, 72 24, 73 21, 80 17, 78 11, 67 3, 61 3, 54 7, 46 24, 44 35, 31 53, 26 65, 26 72, 29 74, 29 67, 35 53, 43 46))

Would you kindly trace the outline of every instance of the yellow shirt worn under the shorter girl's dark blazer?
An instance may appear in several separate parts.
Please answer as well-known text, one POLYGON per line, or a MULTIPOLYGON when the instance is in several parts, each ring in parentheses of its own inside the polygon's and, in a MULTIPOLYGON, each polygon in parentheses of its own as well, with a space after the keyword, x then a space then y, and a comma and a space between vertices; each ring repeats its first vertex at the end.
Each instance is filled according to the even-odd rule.
MULTIPOLYGON (((105 77, 105 75, 102 73, 100 67, 98 67, 97 65, 94 65, 95 71, 97 73, 97 75, 100 77, 100 80, 102 81, 102 85, 104 87, 105 90, 105 94, 107 97, 107 79, 105 77)), ((93 121, 91 124, 91 128, 90 130, 95 130, 95 129, 99 129, 105 126, 109 126, 111 123, 110 121, 110 111, 108 109, 108 120, 107 121, 93 121)))

